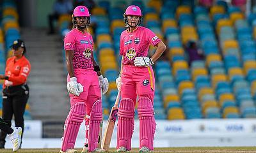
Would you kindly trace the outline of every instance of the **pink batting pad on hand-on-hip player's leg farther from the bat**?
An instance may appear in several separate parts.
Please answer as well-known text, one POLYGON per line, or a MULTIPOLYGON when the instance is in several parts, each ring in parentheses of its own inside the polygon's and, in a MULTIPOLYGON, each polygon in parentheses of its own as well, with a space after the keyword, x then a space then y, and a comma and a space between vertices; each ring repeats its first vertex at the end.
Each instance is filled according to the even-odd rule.
POLYGON ((156 120, 152 102, 147 97, 138 100, 138 116, 140 120, 140 148, 148 147, 154 150, 154 134, 156 131, 156 120))

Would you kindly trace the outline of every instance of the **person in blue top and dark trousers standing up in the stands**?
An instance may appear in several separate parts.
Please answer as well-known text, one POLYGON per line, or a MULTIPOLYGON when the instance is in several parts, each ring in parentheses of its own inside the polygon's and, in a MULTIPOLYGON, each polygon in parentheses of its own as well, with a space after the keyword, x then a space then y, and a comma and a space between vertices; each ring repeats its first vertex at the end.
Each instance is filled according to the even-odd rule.
POLYGON ((60 15, 72 13, 72 2, 70 0, 57 0, 53 5, 53 13, 48 15, 49 20, 49 32, 48 34, 54 34, 54 20, 58 20, 60 15))

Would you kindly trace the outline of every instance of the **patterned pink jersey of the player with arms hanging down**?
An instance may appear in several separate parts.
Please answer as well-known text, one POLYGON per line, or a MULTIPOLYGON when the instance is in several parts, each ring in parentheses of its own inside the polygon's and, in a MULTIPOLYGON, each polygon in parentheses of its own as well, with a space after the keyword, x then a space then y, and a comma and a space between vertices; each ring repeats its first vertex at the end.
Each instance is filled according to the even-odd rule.
POLYGON ((93 69, 93 38, 90 33, 72 29, 64 38, 64 49, 74 52, 74 69, 93 69))

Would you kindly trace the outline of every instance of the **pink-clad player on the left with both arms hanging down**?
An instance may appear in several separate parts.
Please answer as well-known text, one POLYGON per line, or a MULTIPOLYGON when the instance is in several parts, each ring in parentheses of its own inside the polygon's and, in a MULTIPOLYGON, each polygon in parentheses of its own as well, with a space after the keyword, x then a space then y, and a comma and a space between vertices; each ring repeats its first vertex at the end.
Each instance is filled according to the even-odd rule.
POLYGON ((67 90, 70 96, 70 112, 65 120, 60 152, 74 150, 77 133, 84 115, 90 115, 88 122, 88 151, 105 152, 98 149, 98 135, 102 120, 101 94, 108 91, 108 79, 100 74, 100 68, 93 58, 93 38, 87 31, 90 14, 85 6, 77 6, 72 15, 73 29, 64 39, 67 62, 67 90))

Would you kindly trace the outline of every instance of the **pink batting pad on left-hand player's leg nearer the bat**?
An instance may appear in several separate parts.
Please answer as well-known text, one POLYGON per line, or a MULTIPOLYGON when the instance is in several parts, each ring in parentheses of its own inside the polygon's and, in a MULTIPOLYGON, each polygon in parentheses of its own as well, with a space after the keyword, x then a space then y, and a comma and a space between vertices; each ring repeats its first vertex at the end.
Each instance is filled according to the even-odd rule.
POLYGON ((89 135, 88 135, 88 151, 92 152, 98 146, 98 136, 100 122, 102 120, 102 103, 97 100, 93 106, 90 114, 89 135))

